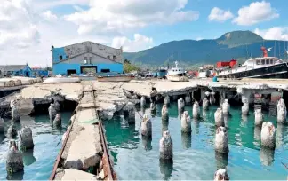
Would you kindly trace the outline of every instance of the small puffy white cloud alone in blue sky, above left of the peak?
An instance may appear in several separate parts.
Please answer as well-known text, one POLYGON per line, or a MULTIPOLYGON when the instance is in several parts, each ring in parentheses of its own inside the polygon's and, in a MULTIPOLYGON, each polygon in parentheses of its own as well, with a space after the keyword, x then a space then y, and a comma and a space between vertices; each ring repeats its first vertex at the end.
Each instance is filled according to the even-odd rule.
POLYGON ((234 17, 234 15, 229 10, 224 11, 218 7, 214 7, 214 8, 212 8, 212 10, 208 16, 208 19, 210 21, 214 20, 214 21, 218 21, 218 22, 224 22, 226 20, 232 19, 233 17, 234 17))

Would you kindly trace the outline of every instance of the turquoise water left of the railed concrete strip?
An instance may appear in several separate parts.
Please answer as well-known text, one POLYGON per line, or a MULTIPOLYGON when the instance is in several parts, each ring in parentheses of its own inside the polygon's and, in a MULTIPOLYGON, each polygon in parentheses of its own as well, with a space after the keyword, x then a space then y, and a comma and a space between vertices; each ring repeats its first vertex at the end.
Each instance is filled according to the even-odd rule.
MULTIPOLYGON (((68 121, 71 117, 71 112, 63 112, 62 128, 53 129, 49 122, 49 115, 36 115, 35 117, 21 117, 20 126, 30 126, 33 133, 34 150, 23 154, 24 172, 16 173, 9 179, 23 180, 48 180, 52 173, 53 164, 57 154, 60 151, 63 133, 66 131, 68 121)), ((10 121, 5 120, 4 131, 8 129, 10 121)), ((5 134, 5 133, 4 133, 5 134)), ((0 135, 0 180, 7 179, 6 173, 6 155, 8 152, 9 139, 0 135)))

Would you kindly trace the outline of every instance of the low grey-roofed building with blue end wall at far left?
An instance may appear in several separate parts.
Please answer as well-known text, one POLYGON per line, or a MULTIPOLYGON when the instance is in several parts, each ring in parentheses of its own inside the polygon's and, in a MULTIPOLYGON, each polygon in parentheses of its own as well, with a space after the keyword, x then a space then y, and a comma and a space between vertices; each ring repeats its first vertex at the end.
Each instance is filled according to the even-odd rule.
POLYGON ((32 76, 32 70, 26 65, 5 65, 0 66, 0 75, 4 76, 32 76))

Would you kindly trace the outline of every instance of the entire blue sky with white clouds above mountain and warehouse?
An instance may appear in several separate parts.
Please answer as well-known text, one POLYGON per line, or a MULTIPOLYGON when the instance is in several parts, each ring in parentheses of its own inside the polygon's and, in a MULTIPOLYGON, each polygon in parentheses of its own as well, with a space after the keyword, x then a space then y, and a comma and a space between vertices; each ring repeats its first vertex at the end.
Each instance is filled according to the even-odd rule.
POLYGON ((0 65, 52 66, 51 47, 92 41, 135 52, 251 30, 288 41, 288 0, 1 0, 0 65))

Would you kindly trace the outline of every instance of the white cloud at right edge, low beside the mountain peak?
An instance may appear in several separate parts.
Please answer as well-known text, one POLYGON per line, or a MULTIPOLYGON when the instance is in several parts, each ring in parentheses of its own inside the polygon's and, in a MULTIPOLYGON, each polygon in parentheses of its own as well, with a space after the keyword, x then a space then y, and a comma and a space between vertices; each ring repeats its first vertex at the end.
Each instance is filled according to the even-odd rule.
POLYGON ((288 40, 288 27, 273 27, 263 30, 256 28, 254 33, 266 40, 288 40))

